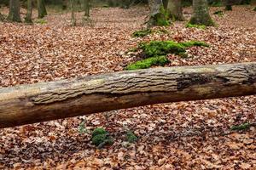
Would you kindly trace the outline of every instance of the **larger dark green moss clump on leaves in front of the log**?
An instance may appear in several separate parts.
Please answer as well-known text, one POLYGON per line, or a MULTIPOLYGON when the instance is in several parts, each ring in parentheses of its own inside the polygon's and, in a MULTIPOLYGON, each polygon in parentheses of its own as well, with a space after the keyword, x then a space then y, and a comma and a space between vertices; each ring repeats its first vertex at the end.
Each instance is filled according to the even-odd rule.
POLYGON ((113 144, 113 139, 109 137, 108 132, 105 129, 97 127, 92 132, 91 143, 98 148, 102 148, 105 145, 113 144))

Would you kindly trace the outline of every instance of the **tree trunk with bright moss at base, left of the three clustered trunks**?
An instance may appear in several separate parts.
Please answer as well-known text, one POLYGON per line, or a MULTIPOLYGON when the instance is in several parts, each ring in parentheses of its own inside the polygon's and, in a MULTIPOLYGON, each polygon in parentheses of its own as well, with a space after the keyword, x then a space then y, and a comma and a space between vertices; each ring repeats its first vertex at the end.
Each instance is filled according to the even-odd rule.
POLYGON ((170 25, 162 0, 148 0, 148 6, 150 8, 148 27, 170 25))

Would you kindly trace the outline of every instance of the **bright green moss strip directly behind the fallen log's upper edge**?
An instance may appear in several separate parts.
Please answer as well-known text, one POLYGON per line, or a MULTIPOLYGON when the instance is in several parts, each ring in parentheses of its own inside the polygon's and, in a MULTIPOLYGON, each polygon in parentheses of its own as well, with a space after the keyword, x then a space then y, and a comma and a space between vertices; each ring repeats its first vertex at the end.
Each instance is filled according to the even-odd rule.
POLYGON ((152 65, 166 65, 169 63, 169 60, 166 59, 166 56, 156 56, 150 57, 148 59, 142 59, 135 63, 131 63, 130 65, 126 66, 125 70, 138 70, 138 69, 147 69, 152 65))

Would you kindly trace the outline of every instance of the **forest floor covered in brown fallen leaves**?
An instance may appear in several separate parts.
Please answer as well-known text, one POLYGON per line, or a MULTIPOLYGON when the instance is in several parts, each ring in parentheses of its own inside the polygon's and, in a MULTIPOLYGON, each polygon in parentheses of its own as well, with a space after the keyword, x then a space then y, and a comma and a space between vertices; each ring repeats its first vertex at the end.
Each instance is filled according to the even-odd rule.
MULTIPOLYGON (((176 22, 155 28, 165 33, 143 38, 131 37, 143 28, 148 15, 143 7, 94 8, 93 26, 71 27, 70 14, 65 13, 49 14, 45 24, 0 23, 0 87, 122 71, 137 59, 125 52, 149 40, 210 44, 189 48, 187 59, 170 54, 166 66, 256 61, 256 13, 250 6, 236 6, 222 17, 213 15, 218 9, 211 8, 218 27, 200 30, 176 22)), ((191 8, 184 8, 184 14, 188 19, 191 8)), ((0 129, 0 169, 256 169, 256 127, 230 130, 245 122, 256 122, 255 95, 5 128, 0 129), (78 131, 83 120, 89 132, 106 128, 113 145, 101 150, 92 145, 90 133, 78 131), (128 130, 136 133, 136 143, 125 142, 128 130)))

